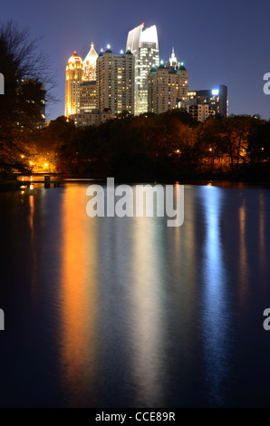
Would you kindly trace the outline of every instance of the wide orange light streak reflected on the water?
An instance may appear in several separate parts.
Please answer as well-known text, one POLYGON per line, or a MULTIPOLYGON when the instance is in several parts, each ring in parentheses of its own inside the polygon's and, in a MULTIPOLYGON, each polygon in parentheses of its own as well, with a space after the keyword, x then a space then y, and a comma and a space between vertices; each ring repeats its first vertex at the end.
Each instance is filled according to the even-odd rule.
POLYGON ((72 187, 65 190, 60 356, 63 388, 72 406, 80 406, 85 398, 91 403, 95 394, 96 221, 88 220, 82 208, 84 204, 84 191, 72 187))

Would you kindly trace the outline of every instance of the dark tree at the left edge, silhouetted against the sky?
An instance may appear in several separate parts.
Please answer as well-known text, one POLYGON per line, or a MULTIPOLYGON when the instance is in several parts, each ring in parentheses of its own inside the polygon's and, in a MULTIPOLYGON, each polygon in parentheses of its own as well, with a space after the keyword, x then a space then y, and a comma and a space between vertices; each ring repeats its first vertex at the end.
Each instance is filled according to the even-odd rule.
POLYGON ((37 41, 12 21, 0 25, 0 73, 5 95, 0 96, 0 169, 25 169, 27 139, 43 120, 44 102, 50 98, 53 73, 37 53, 37 41))

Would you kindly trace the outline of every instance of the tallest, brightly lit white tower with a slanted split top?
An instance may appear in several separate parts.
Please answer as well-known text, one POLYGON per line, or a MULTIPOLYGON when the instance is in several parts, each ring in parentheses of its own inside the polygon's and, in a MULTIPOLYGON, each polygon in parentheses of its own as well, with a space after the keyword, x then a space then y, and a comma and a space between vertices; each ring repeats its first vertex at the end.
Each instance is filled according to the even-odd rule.
POLYGON ((141 24, 128 34, 126 50, 135 57, 135 115, 148 111, 148 77, 151 66, 159 67, 159 41, 156 25, 143 30, 141 24))

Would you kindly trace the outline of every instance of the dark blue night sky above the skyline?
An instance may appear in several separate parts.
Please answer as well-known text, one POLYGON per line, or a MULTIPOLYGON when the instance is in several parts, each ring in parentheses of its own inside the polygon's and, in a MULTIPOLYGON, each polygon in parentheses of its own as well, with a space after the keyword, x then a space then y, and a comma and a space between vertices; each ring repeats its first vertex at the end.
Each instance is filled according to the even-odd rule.
POLYGON ((228 86, 229 113, 261 114, 270 118, 270 96, 263 92, 270 73, 270 3, 258 0, 9 0, 1 4, 0 20, 29 27, 41 37, 55 69, 59 102, 49 106, 50 118, 64 111, 65 65, 76 50, 82 58, 91 42, 99 53, 111 44, 113 53, 125 48, 130 29, 157 24, 160 59, 168 60, 172 46, 185 62, 189 89, 228 86))

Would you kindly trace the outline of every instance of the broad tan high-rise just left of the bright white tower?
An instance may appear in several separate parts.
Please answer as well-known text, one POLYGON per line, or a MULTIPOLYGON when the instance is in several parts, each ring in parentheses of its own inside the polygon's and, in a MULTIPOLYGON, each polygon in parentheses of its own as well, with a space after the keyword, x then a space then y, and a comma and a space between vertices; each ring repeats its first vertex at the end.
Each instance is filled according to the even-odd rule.
POLYGON ((100 111, 110 108, 114 117, 122 111, 134 114, 134 57, 128 51, 116 56, 108 46, 97 59, 97 96, 100 111))

